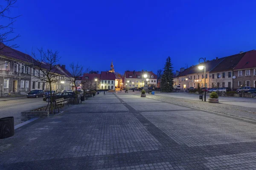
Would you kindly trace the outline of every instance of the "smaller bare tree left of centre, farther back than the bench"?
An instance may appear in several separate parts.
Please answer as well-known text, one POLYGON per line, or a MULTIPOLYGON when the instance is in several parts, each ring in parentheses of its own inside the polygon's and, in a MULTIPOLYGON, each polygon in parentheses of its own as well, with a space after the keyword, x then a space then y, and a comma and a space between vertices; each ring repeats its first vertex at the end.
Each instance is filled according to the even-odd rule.
POLYGON ((78 63, 74 64, 73 62, 70 64, 70 81, 73 82, 76 90, 76 96, 75 99, 73 101, 75 101, 75 104, 78 104, 78 92, 77 92, 77 85, 76 85, 76 81, 79 79, 79 77, 83 76, 85 73, 88 72, 88 69, 84 70, 82 65, 79 65, 78 63))

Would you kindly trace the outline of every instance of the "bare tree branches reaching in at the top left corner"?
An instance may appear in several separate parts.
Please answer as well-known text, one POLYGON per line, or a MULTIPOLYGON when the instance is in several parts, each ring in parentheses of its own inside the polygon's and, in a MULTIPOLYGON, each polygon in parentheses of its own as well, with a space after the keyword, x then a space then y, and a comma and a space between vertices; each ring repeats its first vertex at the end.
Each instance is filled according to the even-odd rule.
POLYGON ((9 46, 11 48, 16 48, 16 44, 9 44, 10 41, 15 40, 17 37, 20 37, 19 34, 12 36, 14 33, 13 24, 15 23, 15 19, 18 16, 11 16, 10 10, 11 8, 15 8, 15 3, 17 0, 2 0, 0 4, 0 43, 3 43, 3 46, 0 47, 0 51, 3 52, 3 48, 9 46), (6 24, 3 24, 6 23, 6 24))

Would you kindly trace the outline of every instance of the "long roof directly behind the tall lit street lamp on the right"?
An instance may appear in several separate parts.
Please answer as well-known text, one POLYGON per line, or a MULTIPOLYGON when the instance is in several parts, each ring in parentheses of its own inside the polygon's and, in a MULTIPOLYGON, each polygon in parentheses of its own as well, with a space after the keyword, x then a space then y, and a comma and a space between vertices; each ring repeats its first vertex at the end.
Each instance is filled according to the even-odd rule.
MULTIPOLYGON (((206 71, 206 72, 212 71, 212 69, 215 68, 215 67, 216 67, 221 61, 223 61, 224 59, 225 59, 225 57, 207 61, 207 62, 206 62, 206 67, 205 67, 205 68, 206 68, 205 71, 206 71)), ((203 72, 204 72, 204 69, 203 69, 203 70, 199 70, 199 69, 198 69, 198 66, 199 66, 199 64, 187 68, 185 71, 183 71, 182 73, 180 73, 177 77, 186 76, 186 75, 189 75, 189 74, 203 73, 203 72)))

